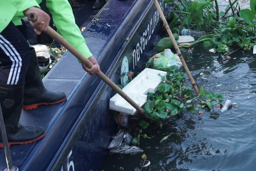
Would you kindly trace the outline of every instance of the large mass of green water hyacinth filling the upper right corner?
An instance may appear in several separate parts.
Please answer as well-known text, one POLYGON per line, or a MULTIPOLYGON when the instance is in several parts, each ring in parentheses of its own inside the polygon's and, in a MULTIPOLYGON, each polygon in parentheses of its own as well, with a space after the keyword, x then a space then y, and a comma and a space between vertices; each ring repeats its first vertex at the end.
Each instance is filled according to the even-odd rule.
MULTIPOLYGON (((255 46, 256 1, 250 1, 250 9, 240 9, 239 1, 229 0, 225 11, 219 11, 217 0, 165 0, 168 2, 173 2, 174 10, 166 17, 173 33, 183 28, 207 33, 195 42, 179 46, 190 47, 203 42, 205 49, 215 48, 225 54, 230 48, 250 50, 255 46)), ((160 40, 157 47, 173 48, 169 44, 167 40, 160 40)))

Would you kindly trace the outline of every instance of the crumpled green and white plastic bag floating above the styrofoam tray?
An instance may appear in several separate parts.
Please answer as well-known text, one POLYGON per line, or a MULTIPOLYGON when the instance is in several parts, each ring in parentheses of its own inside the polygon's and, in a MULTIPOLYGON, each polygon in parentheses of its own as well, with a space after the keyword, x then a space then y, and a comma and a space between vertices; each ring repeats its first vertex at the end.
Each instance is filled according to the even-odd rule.
POLYGON ((178 69, 181 69, 181 60, 178 54, 173 54, 171 49, 165 49, 163 52, 151 57, 146 63, 146 68, 159 70, 161 68, 169 68, 173 65, 176 65, 178 66, 178 69))

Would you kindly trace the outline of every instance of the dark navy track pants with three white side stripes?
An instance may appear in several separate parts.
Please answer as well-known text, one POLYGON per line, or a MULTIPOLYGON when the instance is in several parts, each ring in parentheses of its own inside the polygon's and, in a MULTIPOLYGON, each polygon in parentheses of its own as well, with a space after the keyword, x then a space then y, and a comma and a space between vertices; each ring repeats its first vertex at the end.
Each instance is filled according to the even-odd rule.
POLYGON ((11 22, 0 33, 0 82, 4 84, 24 82, 29 60, 29 44, 11 22))

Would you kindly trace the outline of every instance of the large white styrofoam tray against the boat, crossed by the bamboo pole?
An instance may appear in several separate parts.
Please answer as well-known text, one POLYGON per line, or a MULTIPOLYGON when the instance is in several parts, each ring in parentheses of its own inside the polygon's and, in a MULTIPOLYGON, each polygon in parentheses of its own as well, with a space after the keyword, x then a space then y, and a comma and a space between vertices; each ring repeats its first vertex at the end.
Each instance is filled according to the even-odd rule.
MULTIPOLYGON (((162 81, 162 78, 158 76, 158 74, 166 76, 167 73, 165 71, 145 68, 123 88, 124 93, 136 104, 143 106, 147 101, 147 94, 156 92, 157 86, 162 81)), ((109 109, 131 115, 137 112, 137 110, 119 94, 110 98, 109 109)))

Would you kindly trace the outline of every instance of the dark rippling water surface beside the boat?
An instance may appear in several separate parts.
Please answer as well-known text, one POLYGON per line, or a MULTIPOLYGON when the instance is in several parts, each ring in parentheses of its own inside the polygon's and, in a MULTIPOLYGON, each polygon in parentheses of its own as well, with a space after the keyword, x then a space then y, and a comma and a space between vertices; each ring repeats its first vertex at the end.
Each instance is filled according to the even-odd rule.
MULTIPOLYGON (((228 1, 223 1, 225 4, 228 1)), ((249 1, 241 2, 248 5, 249 1)), ((234 50, 234 49, 233 49, 234 50)), ((254 171, 256 164, 256 55, 237 50, 230 60, 221 54, 210 54, 201 46, 182 53, 197 86, 206 91, 222 93, 237 106, 221 112, 219 108, 203 113, 184 112, 163 124, 162 129, 146 133, 152 139, 141 139, 140 148, 151 165, 143 171, 254 171), (200 73, 204 75, 201 76, 200 73), (181 133, 181 137, 170 133, 181 133)), ((190 82, 187 81, 187 84, 190 82)), ((141 154, 107 155, 99 171, 124 168, 133 171, 140 167, 141 154)))

